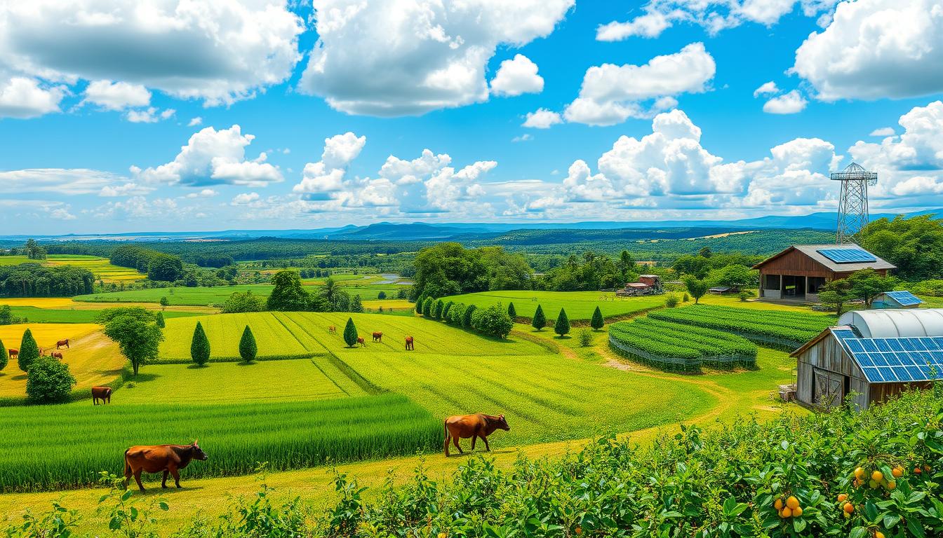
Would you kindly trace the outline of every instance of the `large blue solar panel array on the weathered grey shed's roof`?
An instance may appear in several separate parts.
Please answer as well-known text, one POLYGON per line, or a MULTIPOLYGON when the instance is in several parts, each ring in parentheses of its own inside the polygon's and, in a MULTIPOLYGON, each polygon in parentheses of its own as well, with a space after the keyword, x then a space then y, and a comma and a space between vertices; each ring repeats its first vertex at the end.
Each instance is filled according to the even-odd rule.
POLYGON ((871 383, 909 383, 943 378, 943 336, 859 338, 847 329, 832 332, 871 383))

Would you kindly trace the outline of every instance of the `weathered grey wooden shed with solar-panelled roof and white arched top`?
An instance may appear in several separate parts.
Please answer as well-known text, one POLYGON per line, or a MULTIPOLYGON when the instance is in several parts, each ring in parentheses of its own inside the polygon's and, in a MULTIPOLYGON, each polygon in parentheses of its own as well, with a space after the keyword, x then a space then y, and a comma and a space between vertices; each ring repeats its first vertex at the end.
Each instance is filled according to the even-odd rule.
POLYGON ((791 356, 800 402, 839 405, 854 393, 865 409, 943 378, 943 308, 847 312, 791 356))

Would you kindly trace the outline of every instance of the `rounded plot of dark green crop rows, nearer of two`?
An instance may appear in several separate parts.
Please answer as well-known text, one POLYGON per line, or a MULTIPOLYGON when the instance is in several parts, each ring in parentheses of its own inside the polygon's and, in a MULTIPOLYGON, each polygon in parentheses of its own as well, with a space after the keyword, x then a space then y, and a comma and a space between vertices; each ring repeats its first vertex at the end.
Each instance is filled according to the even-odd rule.
POLYGON ((702 364, 756 364, 756 346, 746 338, 653 318, 614 323, 609 327, 609 344, 622 354, 667 369, 696 372, 702 364))

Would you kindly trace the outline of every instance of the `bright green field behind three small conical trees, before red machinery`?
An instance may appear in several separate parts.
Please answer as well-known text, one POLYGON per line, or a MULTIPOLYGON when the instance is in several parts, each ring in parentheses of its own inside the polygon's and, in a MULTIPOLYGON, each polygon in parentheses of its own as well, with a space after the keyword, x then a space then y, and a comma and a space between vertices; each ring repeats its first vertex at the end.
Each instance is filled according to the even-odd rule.
POLYGON ((496 302, 507 306, 508 302, 513 302, 518 316, 525 318, 533 317, 539 304, 548 319, 555 319, 560 308, 567 310, 567 317, 570 319, 589 319, 597 306, 603 312, 604 318, 612 318, 665 304, 664 295, 620 299, 616 298, 614 293, 601 291, 480 291, 453 295, 442 300, 464 302, 478 307, 490 306, 496 302))

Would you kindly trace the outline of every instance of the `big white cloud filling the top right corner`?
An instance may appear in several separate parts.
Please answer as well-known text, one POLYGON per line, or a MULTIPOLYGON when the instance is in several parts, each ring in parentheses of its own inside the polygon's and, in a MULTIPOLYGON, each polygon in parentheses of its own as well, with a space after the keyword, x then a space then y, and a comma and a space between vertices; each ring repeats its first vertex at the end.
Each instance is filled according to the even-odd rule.
POLYGON ((792 68, 823 101, 943 91, 943 6, 936 0, 843 2, 792 68))

